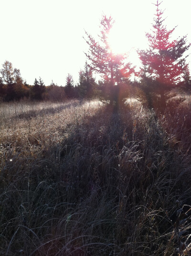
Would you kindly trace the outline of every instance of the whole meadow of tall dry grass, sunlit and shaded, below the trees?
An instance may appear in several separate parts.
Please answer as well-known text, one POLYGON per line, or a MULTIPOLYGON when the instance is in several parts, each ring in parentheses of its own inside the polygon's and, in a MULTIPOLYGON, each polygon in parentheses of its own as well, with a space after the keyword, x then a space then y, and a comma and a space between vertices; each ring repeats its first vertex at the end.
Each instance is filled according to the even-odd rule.
POLYGON ((0 255, 191 255, 191 98, 0 103, 0 255))

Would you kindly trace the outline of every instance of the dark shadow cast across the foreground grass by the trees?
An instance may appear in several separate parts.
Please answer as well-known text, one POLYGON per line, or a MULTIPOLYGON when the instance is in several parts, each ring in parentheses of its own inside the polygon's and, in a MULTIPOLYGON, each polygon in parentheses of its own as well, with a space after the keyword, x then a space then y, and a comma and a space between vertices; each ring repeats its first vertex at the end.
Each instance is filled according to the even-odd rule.
POLYGON ((155 118, 103 107, 64 132, 39 159, 1 172, 2 255, 172 255, 190 158, 170 149, 155 118))

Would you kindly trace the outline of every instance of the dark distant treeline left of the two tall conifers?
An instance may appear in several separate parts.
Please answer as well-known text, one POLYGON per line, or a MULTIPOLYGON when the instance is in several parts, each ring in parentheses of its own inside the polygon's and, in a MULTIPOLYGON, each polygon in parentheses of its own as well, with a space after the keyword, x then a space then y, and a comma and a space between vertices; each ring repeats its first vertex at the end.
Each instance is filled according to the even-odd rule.
POLYGON ((90 68, 85 63, 84 70, 79 72, 79 81, 74 85, 73 76, 68 74, 65 85, 58 86, 53 80, 45 85, 42 78, 35 78, 33 85, 27 84, 21 77, 20 69, 14 68, 9 61, 2 64, 0 70, 0 99, 3 101, 20 100, 53 100, 67 98, 93 98, 100 95, 100 87, 96 83, 90 68))

